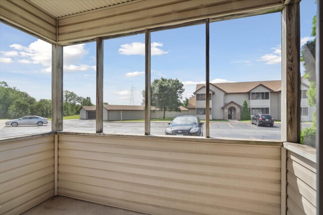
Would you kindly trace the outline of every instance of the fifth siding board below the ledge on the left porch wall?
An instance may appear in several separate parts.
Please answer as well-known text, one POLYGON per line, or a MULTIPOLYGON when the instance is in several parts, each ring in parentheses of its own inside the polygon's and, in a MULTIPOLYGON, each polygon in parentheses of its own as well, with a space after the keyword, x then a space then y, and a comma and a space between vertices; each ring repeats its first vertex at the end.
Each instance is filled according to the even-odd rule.
POLYGON ((15 178, 15 179, 0 183, 0 194, 10 189, 14 189, 15 187, 21 186, 25 183, 28 183, 29 181, 33 181, 43 176, 46 176, 48 174, 51 174, 53 172, 54 172, 54 166, 48 166, 43 169, 39 169, 38 171, 23 175, 19 178, 15 178))

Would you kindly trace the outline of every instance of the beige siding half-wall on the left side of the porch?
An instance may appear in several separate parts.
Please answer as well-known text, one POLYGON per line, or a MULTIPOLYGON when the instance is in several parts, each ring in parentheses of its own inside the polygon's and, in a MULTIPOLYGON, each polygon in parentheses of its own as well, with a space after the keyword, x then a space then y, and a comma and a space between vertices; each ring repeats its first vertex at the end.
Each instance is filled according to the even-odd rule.
POLYGON ((20 214, 52 196, 54 135, 0 142, 0 214, 20 214))

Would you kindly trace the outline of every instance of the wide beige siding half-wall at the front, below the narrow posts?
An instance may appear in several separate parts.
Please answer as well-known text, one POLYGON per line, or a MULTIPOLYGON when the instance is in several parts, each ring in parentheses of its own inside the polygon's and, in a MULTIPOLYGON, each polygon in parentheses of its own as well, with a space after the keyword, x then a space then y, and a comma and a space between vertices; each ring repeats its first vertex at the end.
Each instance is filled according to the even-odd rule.
POLYGON ((280 146, 59 135, 59 195, 156 215, 280 214, 280 146))

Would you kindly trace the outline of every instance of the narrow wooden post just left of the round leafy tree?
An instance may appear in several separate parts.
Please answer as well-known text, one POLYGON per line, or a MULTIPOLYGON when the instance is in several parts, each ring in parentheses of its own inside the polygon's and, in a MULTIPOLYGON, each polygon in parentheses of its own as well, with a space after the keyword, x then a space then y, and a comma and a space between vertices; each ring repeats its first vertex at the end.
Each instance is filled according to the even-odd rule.
POLYGON ((151 114, 151 34, 145 30, 145 135, 150 135, 151 114))

